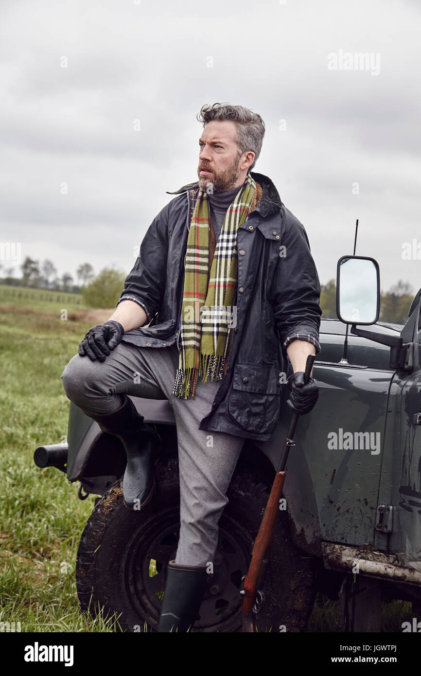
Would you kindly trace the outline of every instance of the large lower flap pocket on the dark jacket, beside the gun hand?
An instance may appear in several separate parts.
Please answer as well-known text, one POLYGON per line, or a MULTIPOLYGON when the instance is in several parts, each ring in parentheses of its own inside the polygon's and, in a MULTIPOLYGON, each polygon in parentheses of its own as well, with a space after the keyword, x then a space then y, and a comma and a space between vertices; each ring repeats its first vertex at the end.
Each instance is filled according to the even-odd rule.
POLYGON ((228 411, 249 432, 269 433, 280 414, 279 367, 235 364, 228 411))

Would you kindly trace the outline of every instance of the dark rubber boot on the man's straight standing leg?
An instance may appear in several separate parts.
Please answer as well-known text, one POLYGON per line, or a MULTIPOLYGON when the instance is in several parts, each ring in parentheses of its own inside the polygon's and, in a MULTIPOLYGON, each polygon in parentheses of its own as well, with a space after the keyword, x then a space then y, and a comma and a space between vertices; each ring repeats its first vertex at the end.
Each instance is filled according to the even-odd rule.
POLYGON ((170 561, 162 601, 159 633, 186 633, 197 620, 206 591, 206 566, 184 566, 170 561))

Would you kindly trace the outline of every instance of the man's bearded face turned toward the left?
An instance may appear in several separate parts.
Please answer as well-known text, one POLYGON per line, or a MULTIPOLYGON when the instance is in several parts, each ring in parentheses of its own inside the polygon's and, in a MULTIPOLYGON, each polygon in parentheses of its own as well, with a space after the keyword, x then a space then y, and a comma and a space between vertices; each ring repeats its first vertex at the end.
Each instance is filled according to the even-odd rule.
POLYGON ((199 188, 207 192, 224 193, 243 185, 247 169, 253 164, 254 153, 239 157, 237 125, 232 120, 212 120, 199 139, 199 188), (249 158, 251 161, 245 160, 249 158), (207 170, 206 172, 204 170, 207 170))

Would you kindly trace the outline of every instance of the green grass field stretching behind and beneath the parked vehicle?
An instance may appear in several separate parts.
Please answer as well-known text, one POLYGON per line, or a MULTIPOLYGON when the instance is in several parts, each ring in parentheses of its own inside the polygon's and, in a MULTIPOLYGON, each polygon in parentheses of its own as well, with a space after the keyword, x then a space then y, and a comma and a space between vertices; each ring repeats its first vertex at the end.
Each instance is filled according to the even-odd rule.
MULTIPOLYGON (((76 551, 94 498, 78 500, 76 483, 32 459, 38 445, 66 437, 61 372, 112 309, 84 308, 72 294, 13 291, 0 287, 0 622, 19 622, 22 632, 116 631, 115 621, 82 617, 76 596, 76 551)), ((384 604, 382 629, 401 631, 412 617, 411 604, 384 604)), ((338 621, 338 604, 320 596, 309 631, 338 631, 338 621)))

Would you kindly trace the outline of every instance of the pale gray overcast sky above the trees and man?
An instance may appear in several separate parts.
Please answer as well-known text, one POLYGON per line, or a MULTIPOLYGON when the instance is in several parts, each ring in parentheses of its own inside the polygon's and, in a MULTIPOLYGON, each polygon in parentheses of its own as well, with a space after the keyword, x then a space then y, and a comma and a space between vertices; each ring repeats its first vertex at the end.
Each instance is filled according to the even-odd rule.
POLYGON ((382 289, 421 286, 421 2, 0 8, 0 241, 22 260, 129 272, 166 191, 197 180, 201 105, 228 101, 264 119, 255 171, 305 226, 321 283, 359 218, 382 289))

